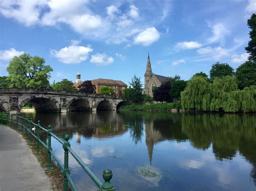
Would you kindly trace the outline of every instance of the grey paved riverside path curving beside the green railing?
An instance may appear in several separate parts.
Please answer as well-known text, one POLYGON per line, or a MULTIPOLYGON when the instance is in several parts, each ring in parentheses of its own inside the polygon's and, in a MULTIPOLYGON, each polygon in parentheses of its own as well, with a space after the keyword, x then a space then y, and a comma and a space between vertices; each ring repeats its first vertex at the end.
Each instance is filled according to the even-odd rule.
POLYGON ((25 140, 4 125, 0 125, 0 190, 52 190, 25 140))

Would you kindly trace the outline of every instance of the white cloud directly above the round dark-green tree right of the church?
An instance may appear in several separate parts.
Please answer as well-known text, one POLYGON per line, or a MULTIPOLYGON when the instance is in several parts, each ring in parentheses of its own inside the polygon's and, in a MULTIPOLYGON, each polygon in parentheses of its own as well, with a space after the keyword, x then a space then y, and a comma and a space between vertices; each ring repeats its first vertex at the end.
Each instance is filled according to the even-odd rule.
POLYGON ((230 55, 230 51, 228 49, 222 48, 222 47, 205 47, 205 48, 199 48, 197 50, 198 54, 204 54, 207 56, 211 56, 213 60, 220 60, 222 58, 227 57, 230 55))

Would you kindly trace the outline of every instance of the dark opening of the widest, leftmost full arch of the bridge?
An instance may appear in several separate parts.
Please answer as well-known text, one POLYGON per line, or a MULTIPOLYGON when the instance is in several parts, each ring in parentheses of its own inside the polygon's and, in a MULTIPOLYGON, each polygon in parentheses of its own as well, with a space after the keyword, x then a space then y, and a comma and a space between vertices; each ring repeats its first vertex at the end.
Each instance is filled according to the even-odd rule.
POLYGON ((19 112, 24 107, 25 104, 31 103, 33 107, 35 108, 36 112, 58 112, 58 102, 50 97, 36 97, 31 96, 28 98, 25 98, 21 104, 19 104, 19 112))

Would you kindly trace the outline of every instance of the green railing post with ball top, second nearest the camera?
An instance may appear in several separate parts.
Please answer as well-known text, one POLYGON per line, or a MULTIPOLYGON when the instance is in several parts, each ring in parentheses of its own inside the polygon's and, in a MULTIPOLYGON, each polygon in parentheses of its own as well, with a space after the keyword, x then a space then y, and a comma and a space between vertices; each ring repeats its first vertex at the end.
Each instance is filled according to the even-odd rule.
POLYGON ((64 148, 64 169, 63 169, 63 174, 64 174, 64 185, 63 189, 64 191, 68 191, 69 189, 69 181, 68 178, 66 177, 66 174, 69 174, 69 151, 68 151, 68 146, 70 146, 69 143, 69 135, 65 135, 64 137, 65 142, 63 143, 63 148, 64 148))

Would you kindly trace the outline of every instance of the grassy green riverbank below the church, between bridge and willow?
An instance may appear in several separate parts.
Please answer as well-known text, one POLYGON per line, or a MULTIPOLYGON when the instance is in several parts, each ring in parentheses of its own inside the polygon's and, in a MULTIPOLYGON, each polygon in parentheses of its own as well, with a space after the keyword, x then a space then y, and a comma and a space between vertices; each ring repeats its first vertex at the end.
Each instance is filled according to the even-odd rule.
POLYGON ((133 110, 133 111, 170 111, 173 109, 180 110, 180 103, 157 103, 150 105, 122 105, 120 110, 133 110))

